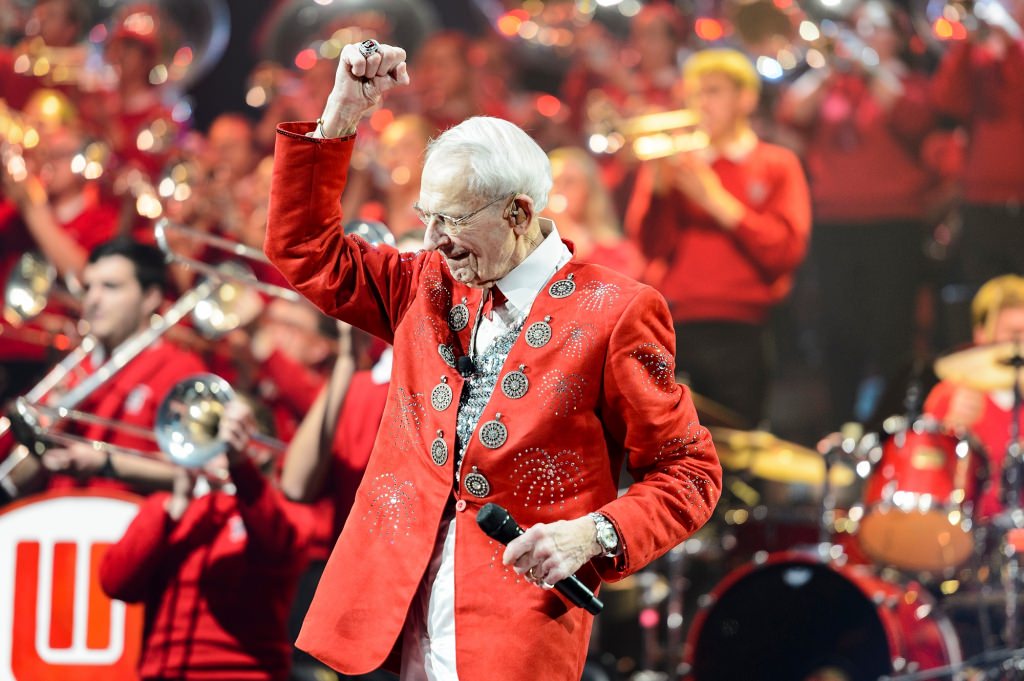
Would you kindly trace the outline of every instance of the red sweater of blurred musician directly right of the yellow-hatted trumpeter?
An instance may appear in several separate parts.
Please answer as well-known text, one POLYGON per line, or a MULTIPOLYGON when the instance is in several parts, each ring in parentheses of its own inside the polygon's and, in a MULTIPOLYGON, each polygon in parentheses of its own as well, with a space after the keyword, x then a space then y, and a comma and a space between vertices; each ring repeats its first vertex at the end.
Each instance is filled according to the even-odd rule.
POLYGON ((903 96, 886 111, 859 76, 829 83, 805 130, 816 223, 924 216, 932 177, 919 146, 932 127, 928 88, 919 76, 902 84, 903 96))

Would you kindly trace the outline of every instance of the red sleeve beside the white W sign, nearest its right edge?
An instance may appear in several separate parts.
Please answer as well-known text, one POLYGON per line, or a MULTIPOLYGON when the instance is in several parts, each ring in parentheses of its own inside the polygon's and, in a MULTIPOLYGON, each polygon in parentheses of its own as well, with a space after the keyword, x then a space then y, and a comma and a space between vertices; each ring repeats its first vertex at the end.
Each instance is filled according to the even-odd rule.
POLYGON ((154 574, 164 563, 174 521, 164 510, 169 495, 146 499, 121 541, 99 566, 99 584, 111 598, 126 603, 144 600, 154 574))

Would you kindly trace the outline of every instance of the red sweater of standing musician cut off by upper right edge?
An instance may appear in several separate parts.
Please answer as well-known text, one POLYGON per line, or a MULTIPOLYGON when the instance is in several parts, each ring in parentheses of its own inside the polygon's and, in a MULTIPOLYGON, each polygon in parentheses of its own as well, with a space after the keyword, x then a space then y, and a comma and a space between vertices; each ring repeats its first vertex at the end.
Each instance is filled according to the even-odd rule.
POLYGON ((1024 201, 1024 43, 1002 59, 970 43, 953 46, 932 81, 932 100, 968 128, 965 198, 1024 201))

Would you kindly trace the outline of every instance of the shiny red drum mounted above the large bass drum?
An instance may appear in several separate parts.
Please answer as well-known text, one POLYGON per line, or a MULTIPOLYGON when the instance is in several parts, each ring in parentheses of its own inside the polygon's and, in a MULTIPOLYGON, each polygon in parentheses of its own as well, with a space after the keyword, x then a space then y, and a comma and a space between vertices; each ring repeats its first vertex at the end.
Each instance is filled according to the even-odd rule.
POLYGON ((971 529, 984 455, 969 440, 921 419, 889 435, 869 457, 857 538, 873 560, 942 571, 974 552, 971 529))

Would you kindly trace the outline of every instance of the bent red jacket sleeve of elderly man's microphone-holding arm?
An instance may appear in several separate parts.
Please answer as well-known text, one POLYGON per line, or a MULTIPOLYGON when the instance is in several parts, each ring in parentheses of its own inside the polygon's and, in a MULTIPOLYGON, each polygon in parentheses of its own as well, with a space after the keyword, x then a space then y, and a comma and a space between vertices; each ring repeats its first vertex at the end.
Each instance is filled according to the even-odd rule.
POLYGON ((689 389, 676 383, 674 347, 665 299, 643 287, 615 324, 604 367, 600 411, 636 480, 599 509, 623 547, 614 561, 595 561, 606 580, 642 568, 695 533, 721 496, 715 444, 689 389))

